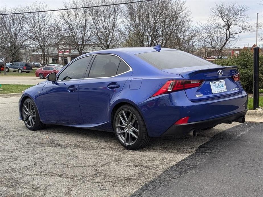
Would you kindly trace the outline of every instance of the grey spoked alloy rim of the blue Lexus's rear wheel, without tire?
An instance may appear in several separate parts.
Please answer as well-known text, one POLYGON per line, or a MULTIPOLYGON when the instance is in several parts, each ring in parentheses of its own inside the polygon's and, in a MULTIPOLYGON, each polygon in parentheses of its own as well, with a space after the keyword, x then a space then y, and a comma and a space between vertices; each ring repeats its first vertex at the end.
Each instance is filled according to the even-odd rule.
POLYGON ((125 145, 132 145, 139 136, 136 116, 130 110, 121 110, 115 120, 117 137, 125 145))

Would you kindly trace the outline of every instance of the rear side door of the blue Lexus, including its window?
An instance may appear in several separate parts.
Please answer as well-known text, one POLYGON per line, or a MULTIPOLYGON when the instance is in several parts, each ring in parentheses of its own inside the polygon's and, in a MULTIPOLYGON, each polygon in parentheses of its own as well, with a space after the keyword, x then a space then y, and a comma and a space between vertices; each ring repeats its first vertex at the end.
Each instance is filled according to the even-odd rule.
POLYGON ((109 121, 111 103, 132 75, 131 67, 114 55, 96 55, 79 84, 79 104, 84 124, 109 121))

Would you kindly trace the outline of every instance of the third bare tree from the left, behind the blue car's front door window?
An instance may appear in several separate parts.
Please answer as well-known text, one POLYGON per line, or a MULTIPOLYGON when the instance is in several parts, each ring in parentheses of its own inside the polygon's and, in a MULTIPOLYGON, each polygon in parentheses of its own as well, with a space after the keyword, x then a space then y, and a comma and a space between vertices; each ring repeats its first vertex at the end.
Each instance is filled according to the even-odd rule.
MULTIPOLYGON (((64 8, 87 7, 91 0, 73 0, 64 2, 64 8)), ((91 43, 92 21, 90 9, 73 9, 61 11, 59 16, 65 28, 64 32, 71 37, 69 45, 82 55, 84 48, 91 43)))

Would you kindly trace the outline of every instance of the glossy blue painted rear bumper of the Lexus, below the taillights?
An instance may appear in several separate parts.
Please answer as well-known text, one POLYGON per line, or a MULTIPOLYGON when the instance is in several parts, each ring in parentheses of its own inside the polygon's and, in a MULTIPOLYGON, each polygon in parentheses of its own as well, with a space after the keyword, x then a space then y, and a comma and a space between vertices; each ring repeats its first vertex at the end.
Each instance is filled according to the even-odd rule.
MULTIPOLYGON (((243 91, 229 97, 191 102, 185 91, 177 91, 167 95, 151 97, 138 104, 138 106, 149 136, 160 137, 170 127, 173 127, 175 122, 187 116, 190 117, 189 124, 206 120, 219 120, 216 123, 212 121, 213 124, 222 123, 225 117, 246 112, 247 99, 247 93, 243 91)), ((209 125, 206 127, 209 127, 209 125)), ((178 131, 178 133, 181 135, 181 131, 178 131)))

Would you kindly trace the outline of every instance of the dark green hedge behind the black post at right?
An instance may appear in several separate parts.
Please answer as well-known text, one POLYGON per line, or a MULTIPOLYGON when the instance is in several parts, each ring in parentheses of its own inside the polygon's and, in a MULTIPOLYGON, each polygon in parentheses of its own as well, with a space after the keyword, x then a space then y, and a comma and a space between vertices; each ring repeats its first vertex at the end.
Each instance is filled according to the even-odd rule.
MULTIPOLYGON (((240 72, 240 81, 243 89, 253 92, 253 51, 244 49, 238 55, 234 55, 227 59, 217 59, 215 64, 222 66, 238 66, 240 72)), ((263 89, 263 54, 259 55, 259 89, 263 89)))

